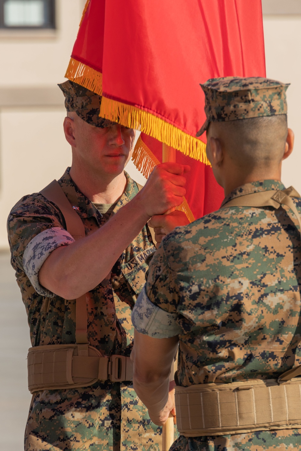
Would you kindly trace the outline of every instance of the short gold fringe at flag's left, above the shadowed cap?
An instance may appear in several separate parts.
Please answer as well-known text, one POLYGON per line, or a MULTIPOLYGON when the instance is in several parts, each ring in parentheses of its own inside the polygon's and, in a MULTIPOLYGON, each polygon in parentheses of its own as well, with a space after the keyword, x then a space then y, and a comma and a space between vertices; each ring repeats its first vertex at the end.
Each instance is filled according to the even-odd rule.
POLYGON ((102 96, 102 73, 87 64, 70 58, 65 78, 102 96))

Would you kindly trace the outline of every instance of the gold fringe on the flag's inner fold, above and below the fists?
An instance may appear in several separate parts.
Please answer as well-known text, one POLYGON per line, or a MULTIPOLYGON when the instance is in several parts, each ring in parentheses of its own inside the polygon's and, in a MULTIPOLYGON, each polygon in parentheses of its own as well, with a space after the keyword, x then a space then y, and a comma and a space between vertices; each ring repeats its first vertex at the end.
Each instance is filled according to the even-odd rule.
MULTIPOLYGON (((160 164, 160 161, 153 154, 150 148, 143 142, 140 136, 134 147, 132 160, 136 168, 144 175, 146 179, 148 179, 153 168, 160 164)), ((181 203, 181 205, 179 205, 179 207, 176 207, 176 210, 184 212, 189 222, 195 220, 185 197, 183 197, 183 202, 181 203)))

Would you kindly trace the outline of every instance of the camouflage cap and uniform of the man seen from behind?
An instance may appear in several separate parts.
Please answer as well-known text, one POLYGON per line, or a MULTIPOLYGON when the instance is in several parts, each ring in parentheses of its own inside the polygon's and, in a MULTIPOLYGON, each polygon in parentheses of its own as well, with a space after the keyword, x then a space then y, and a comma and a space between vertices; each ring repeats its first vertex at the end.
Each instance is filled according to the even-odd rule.
MULTIPOLYGON (((207 121, 199 135, 212 121, 287 112, 287 85, 272 80, 221 78, 202 87, 207 121)), ((270 179, 246 183, 229 193, 222 205, 247 193, 273 189, 284 186, 270 179)), ((294 202, 301 215, 301 199, 294 202)), ((177 385, 277 379, 301 364, 297 224, 287 208, 225 207, 163 239, 151 257, 132 321, 154 345, 158 339, 179 337, 177 385)), ((136 338, 135 343, 134 348, 140 345, 136 338)), ((283 428, 181 435, 171 450, 301 450, 301 429, 283 428)))

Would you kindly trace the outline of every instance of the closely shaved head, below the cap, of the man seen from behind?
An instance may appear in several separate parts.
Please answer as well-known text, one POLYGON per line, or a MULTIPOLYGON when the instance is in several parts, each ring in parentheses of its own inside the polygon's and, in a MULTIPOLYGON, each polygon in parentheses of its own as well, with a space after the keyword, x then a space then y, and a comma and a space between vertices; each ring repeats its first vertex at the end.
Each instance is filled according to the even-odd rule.
POLYGON ((219 139, 242 170, 279 165, 285 151, 287 115, 210 122, 207 133, 219 139))

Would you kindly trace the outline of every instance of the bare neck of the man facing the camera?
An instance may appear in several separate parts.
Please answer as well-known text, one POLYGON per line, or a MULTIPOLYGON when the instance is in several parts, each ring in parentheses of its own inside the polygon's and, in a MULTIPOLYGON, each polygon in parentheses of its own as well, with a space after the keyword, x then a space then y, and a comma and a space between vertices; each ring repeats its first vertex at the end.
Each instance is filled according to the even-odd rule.
POLYGON ((79 190, 95 203, 114 203, 124 193, 127 179, 124 171, 118 175, 102 174, 79 167, 74 161, 70 169, 70 177, 79 190))

